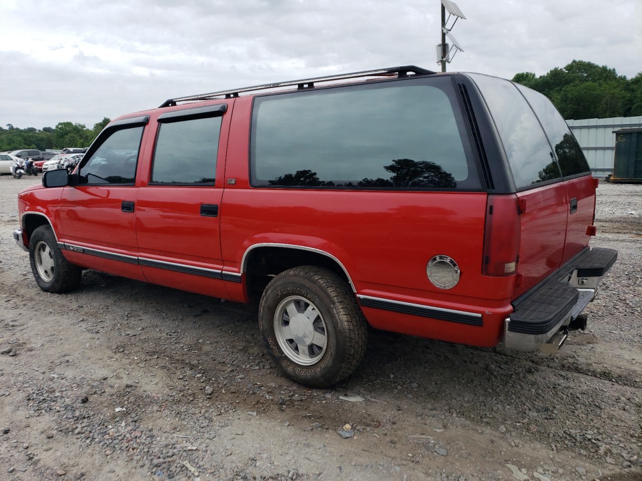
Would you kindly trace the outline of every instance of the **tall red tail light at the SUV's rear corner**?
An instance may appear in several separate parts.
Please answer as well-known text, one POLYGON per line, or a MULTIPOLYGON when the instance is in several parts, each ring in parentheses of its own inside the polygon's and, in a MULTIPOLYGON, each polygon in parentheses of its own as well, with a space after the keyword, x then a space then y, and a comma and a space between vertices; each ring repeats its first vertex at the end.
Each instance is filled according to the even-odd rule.
POLYGON ((517 196, 488 196, 482 274, 511 276, 517 271, 521 222, 517 196))

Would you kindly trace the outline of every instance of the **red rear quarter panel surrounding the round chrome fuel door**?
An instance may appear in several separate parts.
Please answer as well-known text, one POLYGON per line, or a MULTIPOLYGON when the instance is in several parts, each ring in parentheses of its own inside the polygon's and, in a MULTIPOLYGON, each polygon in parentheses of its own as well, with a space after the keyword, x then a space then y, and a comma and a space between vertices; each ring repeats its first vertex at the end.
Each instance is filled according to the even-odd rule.
POLYGON ((232 117, 226 178, 235 178, 236 185, 226 186, 223 194, 225 269, 240 271, 243 254, 254 244, 321 249, 342 262, 358 294, 484 314, 480 328, 364 309, 377 328, 467 344, 497 343, 515 280, 480 280, 487 194, 252 189, 251 104, 247 97, 237 99, 232 117), (455 258, 460 266, 453 289, 438 289, 426 276, 428 260, 437 254, 455 258), (495 311, 485 314, 491 306, 495 311))

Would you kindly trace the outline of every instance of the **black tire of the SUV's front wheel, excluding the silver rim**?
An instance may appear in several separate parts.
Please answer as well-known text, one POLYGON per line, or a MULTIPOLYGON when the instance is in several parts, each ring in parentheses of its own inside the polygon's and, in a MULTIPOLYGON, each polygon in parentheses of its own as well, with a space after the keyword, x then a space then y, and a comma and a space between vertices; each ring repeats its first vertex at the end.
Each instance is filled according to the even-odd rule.
POLYGON ((29 262, 33 277, 40 289, 45 292, 55 292, 57 294, 59 292, 73 291, 80 284, 82 269, 65 259, 58 247, 58 242, 56 242, 56 236, 48 225, 40 226, 31 233, 29 239, 29 262), (51 251, 51 259, 53 259, 55 269, 53 269, 50 280, 40 276, 36 267, 35 249, 39 242, 47 244, 51 251))

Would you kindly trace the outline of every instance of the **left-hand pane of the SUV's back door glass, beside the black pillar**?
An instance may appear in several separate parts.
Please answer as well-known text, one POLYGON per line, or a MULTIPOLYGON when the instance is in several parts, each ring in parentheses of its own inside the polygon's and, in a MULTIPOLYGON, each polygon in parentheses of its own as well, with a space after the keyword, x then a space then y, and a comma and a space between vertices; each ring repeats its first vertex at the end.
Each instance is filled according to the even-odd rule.
POLYGON ((560 179, 546 135, 519 90, 508 80, 470 74, 495 122, 517 189, 560 179))

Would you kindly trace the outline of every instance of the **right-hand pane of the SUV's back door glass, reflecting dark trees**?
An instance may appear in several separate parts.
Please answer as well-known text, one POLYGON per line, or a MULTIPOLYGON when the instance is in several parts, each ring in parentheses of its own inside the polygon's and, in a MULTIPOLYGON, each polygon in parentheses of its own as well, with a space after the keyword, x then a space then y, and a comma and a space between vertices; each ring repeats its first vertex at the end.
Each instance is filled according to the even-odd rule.
POLYGON ((523 85, 517 85, 517 88, 524 94, 530 106, 535 110, 535 115, 542 122, 548 140, 551 141, 555 154, 557 154, 557 161, 562 169, 562 175, 569 177, 589 173, 591 167, 586 162, 584 153, 568 128, 566 121, 557 112, 557 108, 539 92, 528 89, 523 85))

